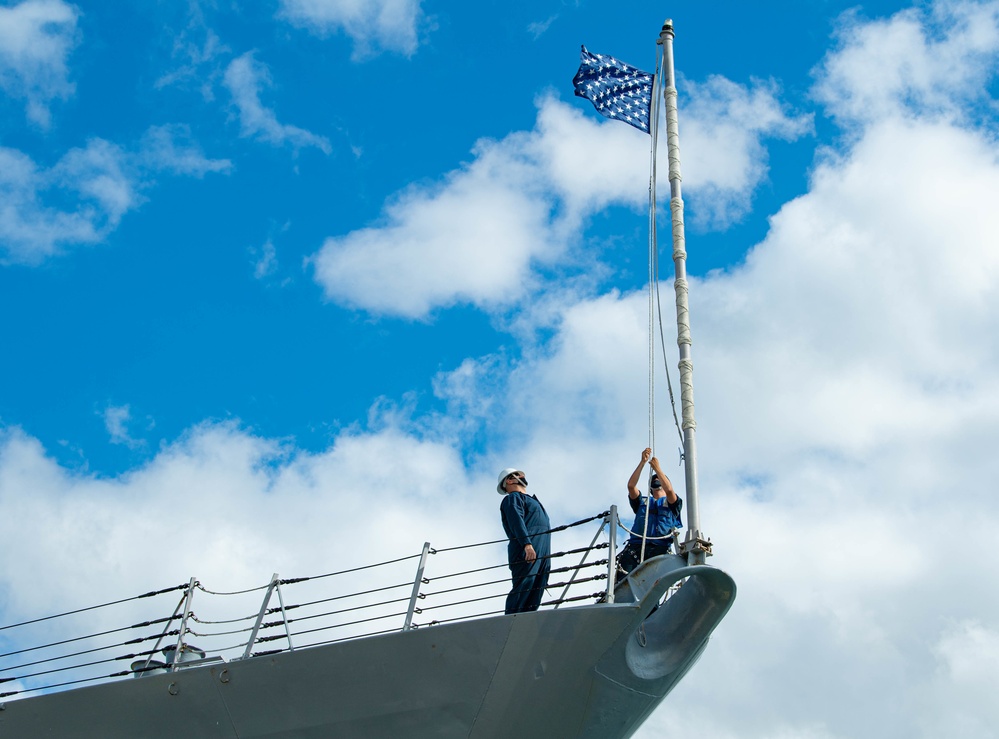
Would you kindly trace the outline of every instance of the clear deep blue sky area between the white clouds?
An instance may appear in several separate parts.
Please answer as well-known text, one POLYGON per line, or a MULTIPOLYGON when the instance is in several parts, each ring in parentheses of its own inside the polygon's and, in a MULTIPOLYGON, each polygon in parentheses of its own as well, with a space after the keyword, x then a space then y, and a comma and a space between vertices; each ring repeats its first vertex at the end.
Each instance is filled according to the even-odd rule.
MULTIPOLYGON (((29 7, 6 12, 23 17, 29 7)), ((95 166, 114 168, 126 202, 97 201, 95 212, 94 199, 66 180, 31 193, 38 210, 23 228, 46 232, 60 217, 89 214, 94 233, 74 240, 67 227, 22 237, 21 246, 5 239, 2 344, 12 361, 2 380, 12 391, 0 419, 62 463, 111 475, 205 419, 238 419, 317 450, 337 428, 363 421, 378 397, 415 393, 429 411, 439 406, 436 372, 496 348, 516 357, 508 333, 467 299, 416 316, 345 310, 323 295, 309 260, 326 238, 383 221, 386 203, 407 188, 440 187, 480 139, 530 131, 539 96, 592 117, 572 96, 579 44, 653 68, 664 12, 428 6, 409 26, 362 24, 352 36, 276 3, 72 7, 63 11, 69 20, 41 27, 61 45, 59 68, 35 83, 52 87, 26 95, 31 83, 14 81, 16 67, 5 75, 3 145, 44 174, 100 142, 109 160, 95 166), (247 123, 253 113, 226 83, 237 71, 271 129, 247 123), (30 118, 33 96, 44 122, 30 118), (174 147, 169 154, 154 150, 156 132, 174 147), (109 411, 134 443, 109 437, 109 411)), ((731 4, 719 26, 714 11, 684 8, 680 73, 774 78, 781 104, 804 113, 814 45, 838 9, 788 3, 775 7, 777 23, 731 4)), ((767 142, 770 157, 796 166, 771 165, 744 193, 756 217, 697 232, 694 274, 741 259, 765 232, 766 214, 803 191, 815 141, 795 139, 767 142)), ((695 218, 697 208, 692 198, 695 218)), ((545 282, 595 272, 585 262, 596 260, 591 289, 639 286, 644 229, 635 207, 592 209, 575 234, 582 263, 549 261, 545 282)))

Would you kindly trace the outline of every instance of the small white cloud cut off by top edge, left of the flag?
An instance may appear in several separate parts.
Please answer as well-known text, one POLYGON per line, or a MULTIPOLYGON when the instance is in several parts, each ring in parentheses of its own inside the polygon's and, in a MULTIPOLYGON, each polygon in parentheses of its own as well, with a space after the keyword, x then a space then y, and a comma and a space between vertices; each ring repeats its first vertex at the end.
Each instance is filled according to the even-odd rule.
POLYGON ((416 51, 420 0, 281 0, 278 17, 327 36, 343 32, 354 40, 354 57, 380 49, 407 56, 416 51))

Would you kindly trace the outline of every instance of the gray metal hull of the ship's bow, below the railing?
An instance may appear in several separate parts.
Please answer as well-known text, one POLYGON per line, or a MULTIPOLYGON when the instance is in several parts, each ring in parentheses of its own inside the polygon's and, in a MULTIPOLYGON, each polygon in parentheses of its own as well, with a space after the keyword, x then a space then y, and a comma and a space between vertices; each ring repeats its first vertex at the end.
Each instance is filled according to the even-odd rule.
POLYGON ((667 556, 616 597, 27 698, 0 710, 0 737, 627 737, 693 666, 735 584, 667 556))

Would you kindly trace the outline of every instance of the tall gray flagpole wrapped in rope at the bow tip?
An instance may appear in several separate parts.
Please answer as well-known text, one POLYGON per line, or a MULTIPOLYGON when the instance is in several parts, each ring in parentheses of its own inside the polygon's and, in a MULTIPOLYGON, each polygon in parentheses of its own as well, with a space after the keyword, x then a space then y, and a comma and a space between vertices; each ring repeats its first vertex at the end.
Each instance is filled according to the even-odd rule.
POLYGON ((673 267, 676 280, 676 343, 680 361, 680 408, 683 417, 683 468, 687 493, 687 532, 679 552, 688 565, 704 564, 711 542, 701 533, 701 511, 697 499, 697 422, 694 420, 694 363, 691 359, 690 315, 687 305, 687 249, 683 230, 683 195, 680 182, 680 134, 677 124, 676 80, 673 71, 673 21, 667 19, 659 34, 663 47, 666 144, 669 154, 670 214, 673 224, 673 267))

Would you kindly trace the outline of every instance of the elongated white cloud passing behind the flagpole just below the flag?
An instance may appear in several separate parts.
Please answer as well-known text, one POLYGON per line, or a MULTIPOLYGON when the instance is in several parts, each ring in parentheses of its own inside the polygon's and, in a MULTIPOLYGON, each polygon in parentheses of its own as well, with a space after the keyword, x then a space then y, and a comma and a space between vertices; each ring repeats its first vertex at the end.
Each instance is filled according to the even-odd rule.
MULTIPOLYGON (((744 207, 766 172, 760 139, 795 136, 808 123, 788 117, 771 88, 713 80, 705 90, 695 88, 695 110, 717 117, 689 127, 704 165, 690 190, 716 219, 734 218, 733 204, 744 207), (755 123, 732 135, 733 121, 749 113, 755 123), (721 140, 730 159, 704 154, 721 140)), ((478 142, 470 164, 397 194, 382 223, 327 239, 313 257, 316 280, 332 301, 408 318, 456 303, 514 305, 538 280, 537 267, 565 261, 589 216, 647 201, 648 141, 541 98, 534 130, 478 142)))

